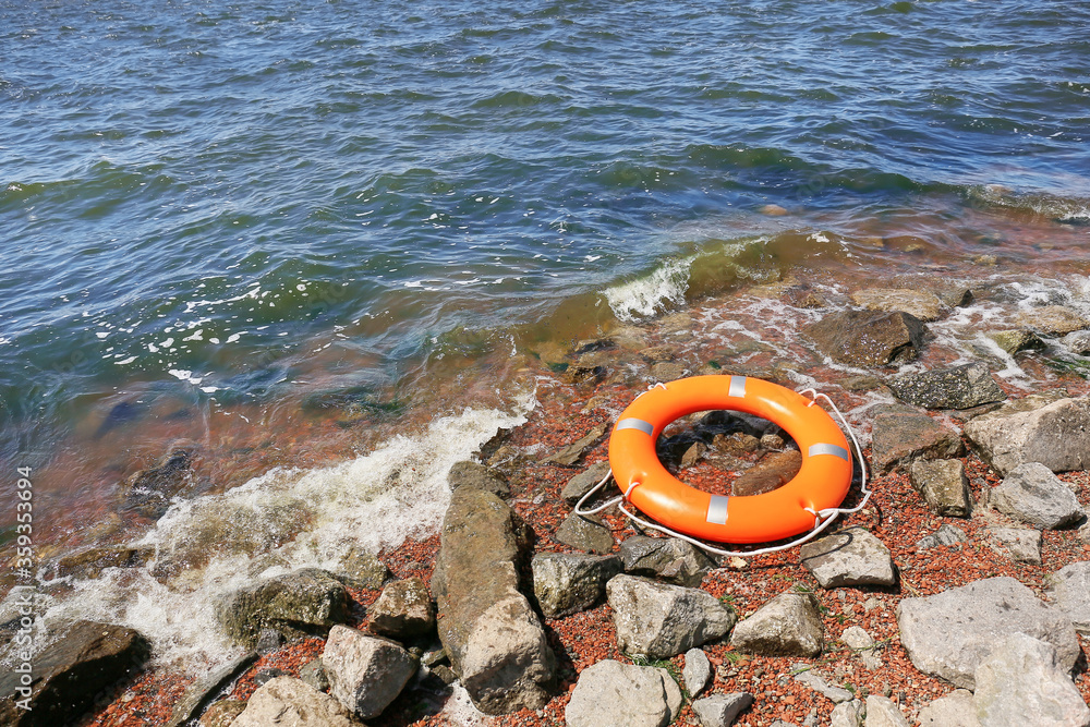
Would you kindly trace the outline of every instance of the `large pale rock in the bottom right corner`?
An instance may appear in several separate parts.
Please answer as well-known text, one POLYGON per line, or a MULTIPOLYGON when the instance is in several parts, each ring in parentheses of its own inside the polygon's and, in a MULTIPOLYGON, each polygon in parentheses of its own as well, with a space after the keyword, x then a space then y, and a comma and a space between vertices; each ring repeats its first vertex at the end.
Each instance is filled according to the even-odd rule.
POLYGON ((1056 647, 1010 633, 976 673, 973 702, 981 727, 1088 727, 1090 708, 1071 683, 1056 647))

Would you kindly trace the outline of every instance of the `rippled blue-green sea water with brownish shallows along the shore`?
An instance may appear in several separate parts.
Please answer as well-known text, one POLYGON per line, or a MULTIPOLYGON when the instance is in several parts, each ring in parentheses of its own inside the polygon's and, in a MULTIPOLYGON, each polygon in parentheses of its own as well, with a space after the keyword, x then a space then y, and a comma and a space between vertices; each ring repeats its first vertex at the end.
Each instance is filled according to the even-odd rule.
POLYGON ((175 439, 217 492, 492 426, 512 354, 740 282, 1085 277, 1088 38, 1078 2, 0 1, 3 461, 71 534, 175 439))

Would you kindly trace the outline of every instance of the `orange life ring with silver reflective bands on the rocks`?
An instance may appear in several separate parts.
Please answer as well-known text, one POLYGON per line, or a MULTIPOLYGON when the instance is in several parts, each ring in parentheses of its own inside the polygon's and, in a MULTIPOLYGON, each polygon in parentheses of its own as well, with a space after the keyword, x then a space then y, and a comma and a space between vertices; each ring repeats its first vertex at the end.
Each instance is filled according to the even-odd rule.
POLYGON ((806 397, 759 378, 693 376, 641 395, 609 437, 609 465, 626 499, 678 532, 715 543, 767 543, 813 529, 816 513, 844 501, 851 455, 836 422, 806 397), (727 497, 690 487, 658 461, 667 424, 699 411, 729 409, 783 427, 802 452, 802 469, 763 495, 727 497))

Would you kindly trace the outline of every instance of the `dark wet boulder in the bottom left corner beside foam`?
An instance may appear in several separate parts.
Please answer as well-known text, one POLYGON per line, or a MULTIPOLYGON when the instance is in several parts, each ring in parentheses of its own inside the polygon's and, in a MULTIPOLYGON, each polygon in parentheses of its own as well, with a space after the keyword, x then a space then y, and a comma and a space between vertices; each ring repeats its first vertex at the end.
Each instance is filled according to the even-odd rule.
POLYGON ((75 724, 99 693, 138 669, 149 652, 147 639, 138 631, 77 621, 40 654, 3 669, 0 724, 75 724), (24 676, 29 683, 24 683, 24 676))

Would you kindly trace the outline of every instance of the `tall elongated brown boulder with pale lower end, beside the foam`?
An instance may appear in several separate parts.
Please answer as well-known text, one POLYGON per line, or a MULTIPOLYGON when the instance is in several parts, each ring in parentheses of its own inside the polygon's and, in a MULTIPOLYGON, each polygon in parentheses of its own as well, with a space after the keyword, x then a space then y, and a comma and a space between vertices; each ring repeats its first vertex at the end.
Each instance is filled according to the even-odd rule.
POLYGON ((432 580, 439 640, 487 714, 536 710, 549 699, 556 661, 519 591, 529 545, 525 523, 493 493, 460 487, 451 495, 432 580))

